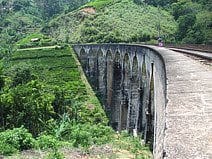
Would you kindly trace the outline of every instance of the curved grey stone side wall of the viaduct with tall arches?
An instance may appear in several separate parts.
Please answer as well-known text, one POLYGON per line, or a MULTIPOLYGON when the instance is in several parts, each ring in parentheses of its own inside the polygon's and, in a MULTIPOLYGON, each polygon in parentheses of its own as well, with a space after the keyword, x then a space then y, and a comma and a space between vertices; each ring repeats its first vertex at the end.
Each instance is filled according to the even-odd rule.
POLYGON ((154 158, 163 158, 166 70, 157 51, 139 45, 74 45, 85 74, 101 98, 111 126, 140 135, 154 158))

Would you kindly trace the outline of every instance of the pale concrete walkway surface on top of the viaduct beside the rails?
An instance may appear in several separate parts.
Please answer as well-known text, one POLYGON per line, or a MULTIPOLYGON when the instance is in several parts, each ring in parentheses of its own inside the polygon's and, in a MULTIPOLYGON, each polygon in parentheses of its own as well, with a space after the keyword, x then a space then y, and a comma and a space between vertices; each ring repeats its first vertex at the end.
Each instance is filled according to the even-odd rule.
POLYGON ((165 156, 212 158, 212 67, 165 48, 155 49, 164 57, 168 78, 165 156))

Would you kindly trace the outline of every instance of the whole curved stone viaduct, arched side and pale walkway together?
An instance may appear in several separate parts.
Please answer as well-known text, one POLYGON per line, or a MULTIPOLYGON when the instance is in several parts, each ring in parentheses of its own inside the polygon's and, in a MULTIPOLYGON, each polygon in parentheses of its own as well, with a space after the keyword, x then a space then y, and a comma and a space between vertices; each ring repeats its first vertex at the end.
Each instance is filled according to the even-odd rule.
POLYGON ((155 159, 212 158, 212 68, 162 47, 74 45, 110 124, 155 159))

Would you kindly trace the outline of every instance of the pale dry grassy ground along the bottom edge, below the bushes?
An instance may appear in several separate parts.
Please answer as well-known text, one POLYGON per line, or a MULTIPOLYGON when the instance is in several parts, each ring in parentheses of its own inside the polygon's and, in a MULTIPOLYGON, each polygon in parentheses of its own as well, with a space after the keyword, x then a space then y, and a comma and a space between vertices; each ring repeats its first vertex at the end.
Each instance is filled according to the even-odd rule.
MULTIPOLYGON (((48 142, 48 141, 46 141, 48 142)), ((57 141, 58 142, 58 141, 57 141)), ((48 142, 48 144, 50 144, 48 142)), ((59 142, 58 152, 66 158, 88 158, 88 159, 152 159, 153 156, 149 148, 142 145, 138 138, 126 135, 126 133, 115 134, 113 140, 103 145, 93 145, 88 149, 73 148, 67 142, 59 142), (125 135, 123 135, 125 134, 125 135)), ((43 158, 49 152, 49 149, 28 150, 12 156, 5 156, 6 159, 21 158, 43 158)))

